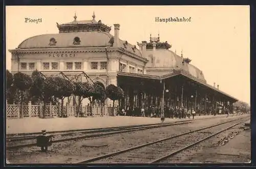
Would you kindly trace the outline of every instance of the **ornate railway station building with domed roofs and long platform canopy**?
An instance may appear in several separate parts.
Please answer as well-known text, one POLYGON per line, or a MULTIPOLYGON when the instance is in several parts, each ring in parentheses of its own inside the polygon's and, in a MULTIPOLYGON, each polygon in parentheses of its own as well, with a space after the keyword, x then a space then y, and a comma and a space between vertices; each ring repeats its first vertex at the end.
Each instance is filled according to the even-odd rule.
POLYGON ((86 73, 103 87, 121 87, 124 98, 118 104, 123 108, 184 106, 226 112, 232 111, 232 103, 237 101, 219 90, 219 85, 209 85, 202 70, 170 50, 172 45, 161 41, 159 35, 130 44, 119 39, 119 24, 114 24, 111 35, 112 26, 96 21, 94 14, 91 20, 74 16, 73 21, 57 23, 57 27, 58 34, 30 37, 9 50, 11 72, 63 73, 81 81, 88 80, 86 73))

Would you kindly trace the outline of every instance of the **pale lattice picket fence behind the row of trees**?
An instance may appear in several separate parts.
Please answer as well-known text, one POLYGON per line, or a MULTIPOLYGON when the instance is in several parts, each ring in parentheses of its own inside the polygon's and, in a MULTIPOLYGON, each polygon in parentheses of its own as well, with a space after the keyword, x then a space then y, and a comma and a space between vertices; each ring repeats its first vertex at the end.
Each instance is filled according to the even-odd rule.
MULTIPOLYGON (((46 105, 45 115, 43 115, 44 106, 32 105, 30 102, 28 105, 17 105, 17 104, 7 104, 6 112, 7 118, 54 118, 61 117, 61 106, 60 105, 46 105)), ((82 114, 89 115, 90 107, 82 106, 82 114)), ((92 106, 92 115, 97 116, 111 116, 112 107, 107 106, 92 106)), ((67 117, 76 116, 76 106, 63 106, 63 114, 67 117)))

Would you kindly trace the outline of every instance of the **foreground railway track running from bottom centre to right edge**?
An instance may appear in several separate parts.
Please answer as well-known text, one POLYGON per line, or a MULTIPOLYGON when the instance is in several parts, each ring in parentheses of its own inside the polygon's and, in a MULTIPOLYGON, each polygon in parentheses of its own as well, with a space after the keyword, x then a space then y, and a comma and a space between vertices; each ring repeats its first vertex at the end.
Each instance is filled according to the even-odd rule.
POLYGON ((243 123, 244 119, 247 120, 248 117, 242 118, 242 121, 241 119, 236 119, 219 123, 179 135, 170 136, 155 142, 97 156, 78 163, 159 163, 212 136, 243 123))

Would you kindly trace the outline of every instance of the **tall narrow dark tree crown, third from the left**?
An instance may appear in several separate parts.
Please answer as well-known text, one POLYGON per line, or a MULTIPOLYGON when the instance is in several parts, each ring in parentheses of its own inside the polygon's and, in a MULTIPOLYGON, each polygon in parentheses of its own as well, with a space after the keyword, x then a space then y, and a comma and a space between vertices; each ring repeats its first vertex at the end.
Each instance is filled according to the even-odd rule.
POLYGON ((30 98, 32 103, 38 103, 42 101, 42 94, 44 92, 45 82, 44 77, 41 76, 41 73, 37 70, 33 71, 32 76, 32 87, 30 88, 30 98))

